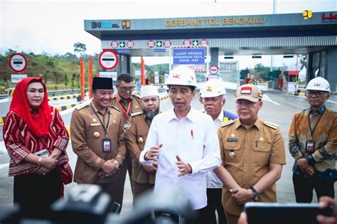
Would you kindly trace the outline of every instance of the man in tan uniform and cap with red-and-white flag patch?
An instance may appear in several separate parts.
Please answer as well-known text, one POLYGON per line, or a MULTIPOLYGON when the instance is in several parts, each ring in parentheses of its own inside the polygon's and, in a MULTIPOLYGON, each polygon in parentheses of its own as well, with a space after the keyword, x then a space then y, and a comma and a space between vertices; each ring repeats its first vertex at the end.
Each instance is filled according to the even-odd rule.
POLYGON ((223 206, 229 224, 236 224, 248 201, 276 202, 275 182, 286 164, 282 133, 276 124, 258 116, 262 92, 256 85, 242 85, 235 94, 240 119, 220 125, 223 166, 215 169, 224 183, 223 206))

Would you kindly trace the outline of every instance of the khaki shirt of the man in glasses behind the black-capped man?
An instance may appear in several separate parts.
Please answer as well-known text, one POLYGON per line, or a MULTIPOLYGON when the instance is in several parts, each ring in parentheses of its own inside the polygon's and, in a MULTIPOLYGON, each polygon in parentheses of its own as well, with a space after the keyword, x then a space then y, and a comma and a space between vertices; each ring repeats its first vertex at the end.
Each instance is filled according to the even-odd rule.
POLYGON ((127 122, 130 122, 129 118, 131 117, 132 113, 143 111, 141 110, 140 98, 137 95, 131 95, 132 104, 130 107, 129 114, 124 114, 122 108, 119 107, 119 103, 117 102, 116 96, 118 97, 119 103, 122 105, 122 107, 124 107, 125 111, 127 111, 127 106, 129 105, 129 102, 124 102, 124 100, 122 100, 122 98, 119 96, 118 93, 114 95, 114 97, 112 98, 112 102, 111 102, 111 105, 118 108, 119 111, 121 112, 124 124, 126 124, 127 122))

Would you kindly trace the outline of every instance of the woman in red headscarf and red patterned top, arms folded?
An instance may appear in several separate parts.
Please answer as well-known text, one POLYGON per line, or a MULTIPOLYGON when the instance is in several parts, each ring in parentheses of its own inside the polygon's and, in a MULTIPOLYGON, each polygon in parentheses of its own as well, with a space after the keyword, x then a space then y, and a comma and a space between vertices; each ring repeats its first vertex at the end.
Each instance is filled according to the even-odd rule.
POLYGON ((58 110, 48 105, 42 78, 18 82, 3 132, 14 203, 20 204, 23 217, 46 217, 50 204, 63 196, 63 171, 70 178, 72 173, 65 152, 69 135, 58 110))

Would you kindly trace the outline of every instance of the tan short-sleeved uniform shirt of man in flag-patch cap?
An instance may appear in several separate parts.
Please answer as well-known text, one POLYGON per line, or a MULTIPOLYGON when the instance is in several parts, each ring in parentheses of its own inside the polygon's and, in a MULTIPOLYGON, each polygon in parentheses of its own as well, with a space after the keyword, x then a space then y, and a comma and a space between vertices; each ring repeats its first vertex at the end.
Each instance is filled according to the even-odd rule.
MULTIPOLYGON (((276 124, 263 122, 258 118, 250 129, 246 129, 240 119, 235 119, 221 124, 218 137, 223 166, 242 188, 249 189, 254 186, 267 174, 269 164, 286 164, 284 141, 276 124)), ((275 184, 261 192, 258 201, 276 202, 275 184)), ((243 209, 225 187, 223 205, 225 210, 233 215, 240 215, 243 209)))

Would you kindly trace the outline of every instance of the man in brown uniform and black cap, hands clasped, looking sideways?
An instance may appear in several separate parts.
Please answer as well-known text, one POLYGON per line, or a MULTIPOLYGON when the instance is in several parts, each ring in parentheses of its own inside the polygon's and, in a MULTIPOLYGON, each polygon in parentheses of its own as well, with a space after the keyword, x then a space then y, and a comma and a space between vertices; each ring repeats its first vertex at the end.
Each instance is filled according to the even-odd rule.
POLYGON ((112 201, 122 205, 119 167, 126 148, 123 120, 119 110, 111 107, 112 79, 94 78, 93 98, 75 108, 70 122, 71 144, 77 154, 74 181, 102 186, 112 201))

